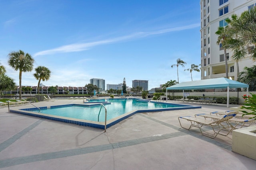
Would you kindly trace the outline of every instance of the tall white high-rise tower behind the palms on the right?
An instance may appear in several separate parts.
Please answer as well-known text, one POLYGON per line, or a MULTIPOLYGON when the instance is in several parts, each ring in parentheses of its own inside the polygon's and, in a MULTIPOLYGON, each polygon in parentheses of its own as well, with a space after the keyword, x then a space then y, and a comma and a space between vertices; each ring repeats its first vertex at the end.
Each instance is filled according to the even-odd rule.
MULTIPOLYGON (((224 49, 217 44, 218 27, 227 25, 226 18, 232 14, 240 14, 253 6, 256 0, 200 0, 201 9, 201 79, 219 78, 226 76, 224 49)), ((250 48, 255 48, 254 46, 250 48)), ((232 51, 227 50, 228 76, 237 80, 237 68, 243 71, 244 66, 251 67, 252 60, 246 57, 238 62, 232 60, 232 51)))

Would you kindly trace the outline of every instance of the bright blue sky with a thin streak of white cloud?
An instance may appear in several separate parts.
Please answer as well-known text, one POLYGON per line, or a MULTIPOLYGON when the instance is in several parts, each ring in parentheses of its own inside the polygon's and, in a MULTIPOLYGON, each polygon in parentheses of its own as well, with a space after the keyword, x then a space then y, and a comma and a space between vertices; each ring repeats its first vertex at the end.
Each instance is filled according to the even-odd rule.
MULTIPOLYGON (((170 80, 191 81, 191 64, 200 64, 200 4, 196 0, 0 0, 0 63, 19 84, 8 54, 22 50, 34 68, 51 70, 46 86, 85 86, 91 78, 148 88, 170 80)), ((32 72, 22 86, 37 86, 32 72)), ((192 72, 200 80, 200 72, 192 72)))

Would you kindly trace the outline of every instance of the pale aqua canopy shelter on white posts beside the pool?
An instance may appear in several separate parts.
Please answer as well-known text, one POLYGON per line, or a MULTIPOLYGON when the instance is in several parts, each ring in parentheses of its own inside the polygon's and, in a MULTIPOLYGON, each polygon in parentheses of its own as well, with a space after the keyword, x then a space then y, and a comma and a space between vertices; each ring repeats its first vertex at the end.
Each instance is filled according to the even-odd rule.
POLYGON ((228 78, 211 78, 206 80, 196 80, 191 82, 181 82, 173 86, 166 88, 166 99, 167 90, 196 90, 196 89, 214 89, 214 88, 227 88, 227 107, 229 106, 229 89, 230 88, 246 88, 246 95, 248 96, 248 84, 230 80, 228 78))

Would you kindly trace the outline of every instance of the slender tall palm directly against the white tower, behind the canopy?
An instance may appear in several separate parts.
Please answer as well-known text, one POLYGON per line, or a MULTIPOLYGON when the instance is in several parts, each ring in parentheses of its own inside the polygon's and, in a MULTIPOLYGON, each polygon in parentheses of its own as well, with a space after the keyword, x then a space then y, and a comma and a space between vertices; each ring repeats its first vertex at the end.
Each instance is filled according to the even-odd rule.
POLYGON ((218 36, 217 44, 218 45, 222 44, 222 47, 224 49, 224 60, 225 60, 225 68, 226 68, 226 78, 228 78, 228 59, 227 59, 227 49, 225 47, 226 39, 228 37, 227 28, 228 28, 228 26, 226 26, 226 27, 218 27, 218 31, 215 32, 215 34, 219 35, 218 36))

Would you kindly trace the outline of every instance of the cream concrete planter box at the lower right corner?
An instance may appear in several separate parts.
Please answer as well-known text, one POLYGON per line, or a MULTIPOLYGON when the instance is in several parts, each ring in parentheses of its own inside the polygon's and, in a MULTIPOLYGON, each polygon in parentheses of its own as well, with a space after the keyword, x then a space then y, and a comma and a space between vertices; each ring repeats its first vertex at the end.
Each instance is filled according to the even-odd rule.
POLYGON ((256 160, 256 126, 232 131, 232 151, 256 160))

